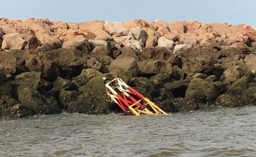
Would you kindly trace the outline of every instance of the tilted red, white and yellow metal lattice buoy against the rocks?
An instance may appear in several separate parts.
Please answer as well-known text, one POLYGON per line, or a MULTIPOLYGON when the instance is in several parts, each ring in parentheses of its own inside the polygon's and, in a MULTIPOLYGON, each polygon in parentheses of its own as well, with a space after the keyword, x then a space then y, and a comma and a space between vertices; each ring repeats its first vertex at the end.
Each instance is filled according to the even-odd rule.
POLYGON ((124 111, 124 113, 127 112, 127 107, 136 116, 139 116, 140 114, 167 114, 155 105, 154 102, 128 86, 120 78, 115 78, 111 81, 108 78, 102 79, 104 80, 108 97, 110 97, 111 100, 124 111))

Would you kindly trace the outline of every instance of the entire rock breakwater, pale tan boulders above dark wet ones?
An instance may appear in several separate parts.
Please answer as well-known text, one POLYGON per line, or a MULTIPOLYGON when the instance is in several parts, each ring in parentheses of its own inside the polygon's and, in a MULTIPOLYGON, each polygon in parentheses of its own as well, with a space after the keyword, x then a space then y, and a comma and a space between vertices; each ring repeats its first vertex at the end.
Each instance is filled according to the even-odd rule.
POLYGON ((255 105, 255 40, 245 24, 0 18, 0 117, 119 113, 102 82, 117 75, 167 112, 255 105))

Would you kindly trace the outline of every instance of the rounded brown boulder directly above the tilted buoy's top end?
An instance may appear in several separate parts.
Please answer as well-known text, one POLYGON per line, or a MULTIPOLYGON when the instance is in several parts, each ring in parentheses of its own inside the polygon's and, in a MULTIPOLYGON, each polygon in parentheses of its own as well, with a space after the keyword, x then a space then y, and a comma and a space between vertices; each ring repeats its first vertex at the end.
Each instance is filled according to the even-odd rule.
POLYGON ((133 57, 120 55, 110 64, 108 70, 111 73, 118 73, 124 82, 128 82, 137 76, 138 65, 133 57))

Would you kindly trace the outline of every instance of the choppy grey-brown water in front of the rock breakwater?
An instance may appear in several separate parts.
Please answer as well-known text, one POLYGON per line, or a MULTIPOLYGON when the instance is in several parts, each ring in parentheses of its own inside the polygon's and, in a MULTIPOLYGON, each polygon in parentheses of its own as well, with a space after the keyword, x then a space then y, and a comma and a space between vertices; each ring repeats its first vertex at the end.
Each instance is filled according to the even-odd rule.
POLYGON ((256 107, 0 120, 0 156, 255 156, 256 107))

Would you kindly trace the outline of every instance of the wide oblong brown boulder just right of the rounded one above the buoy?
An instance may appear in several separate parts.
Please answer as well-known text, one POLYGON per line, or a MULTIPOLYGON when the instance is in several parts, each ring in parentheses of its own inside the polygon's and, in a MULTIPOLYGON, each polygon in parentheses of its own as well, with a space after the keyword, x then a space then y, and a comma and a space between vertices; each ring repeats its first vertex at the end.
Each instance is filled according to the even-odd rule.
POLYGON ((167 73, 171 75, 171 71, 173 70, 171 63, 166 60, 153 60, 153 59, 145 59, 138 63, 139 73, 141 75, 152 75, 158 73, 167 73))

